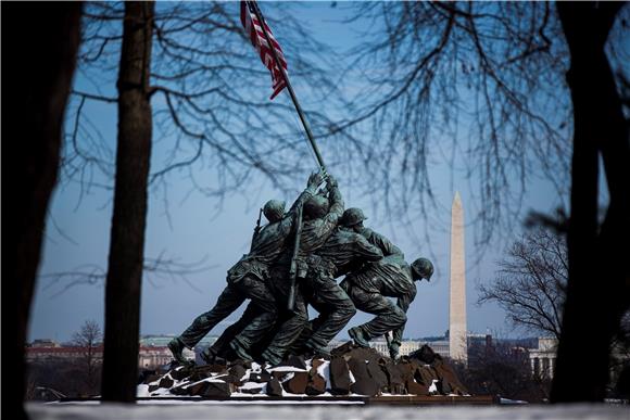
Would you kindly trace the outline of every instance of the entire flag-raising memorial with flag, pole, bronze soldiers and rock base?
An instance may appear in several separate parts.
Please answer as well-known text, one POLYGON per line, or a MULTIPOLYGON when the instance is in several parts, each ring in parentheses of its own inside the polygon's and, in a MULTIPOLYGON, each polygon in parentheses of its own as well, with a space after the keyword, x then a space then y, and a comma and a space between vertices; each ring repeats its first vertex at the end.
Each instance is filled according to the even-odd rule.
POLYGON ((228 270, 214 307, 171 341, 169 369, 146 372, 140 385, 144 395, 317 396, 373 403, 388 398, 413 403, 412 396, 425 397, 425 403, 466 397, 488 404, 492 398, 471 397, 448 361, 430 347, 399 357, 415 282, 429 281, 433 265, 423 257, 407 264, 398 246, 363 225, 367 217, 362 209, 344 209, 339 186, 326 171, 289 84, 280 46, 255 2, 241 2, 241 22, 272 73, 272 99, 288 88, 319 169, 288 211, 285 202, 265 203, 261 214, 267 224, 261 227, 260 214, 250 252, 228 270), (396 298, 395 304, 390 297, 396 298), (204 364, 182 356, 185 347, 193 348, 248 300, 242 317, 201 354, 204 364), (318 313, 315 319, 308 319, 308 305, 318 313), (352 341, 328 351, 357 309, 375 317, 348 330, 352 341), (390 357, 369 346, 370 340, 382 336, 390 357))

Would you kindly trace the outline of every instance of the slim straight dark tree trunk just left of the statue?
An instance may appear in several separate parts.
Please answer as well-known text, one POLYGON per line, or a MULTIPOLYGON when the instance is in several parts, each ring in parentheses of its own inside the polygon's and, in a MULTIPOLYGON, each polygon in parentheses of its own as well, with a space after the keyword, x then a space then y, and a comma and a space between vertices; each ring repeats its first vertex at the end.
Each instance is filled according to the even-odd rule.
POLYGON ((102 398, 136 400, 140 292, 151 157, 153 2, 126 2, 118 73, 116 186, 105 287, 102 398))

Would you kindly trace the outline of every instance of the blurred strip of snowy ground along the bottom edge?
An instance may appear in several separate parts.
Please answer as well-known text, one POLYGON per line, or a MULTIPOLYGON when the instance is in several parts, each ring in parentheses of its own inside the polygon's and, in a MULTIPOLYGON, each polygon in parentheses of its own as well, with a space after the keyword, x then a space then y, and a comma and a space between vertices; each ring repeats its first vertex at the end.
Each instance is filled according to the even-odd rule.
MULTIPOLYGON (((216 402, 144 402, 118 404, 37 404, 28 403, 32 420, 629 420, 630 406, 580 404, 557 406, 340 406, 319 403, 270 406, 216 402), (212 406, 212 407, 209 407, 212 406)), ((270 403, 270 402, 269 402, 270 403)))

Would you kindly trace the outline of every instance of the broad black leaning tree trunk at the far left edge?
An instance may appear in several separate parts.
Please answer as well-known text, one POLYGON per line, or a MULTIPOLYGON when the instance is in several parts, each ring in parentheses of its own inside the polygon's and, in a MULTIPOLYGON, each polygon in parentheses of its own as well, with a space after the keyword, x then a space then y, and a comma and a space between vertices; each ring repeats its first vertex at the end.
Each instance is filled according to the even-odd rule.
POLYGON ((11 190, 11 226, 5 225, 14 229, 14 234, 3 258, 3 284, 15 288, 3 288, 3 293, 10 293, 3 303, 18 305, 17 322, 11 318, 4 347, 5 360, 17 367, 15 382, 3 395, 7 404, 15 405, 14 418, 26 417, 22 405, 26 385, 24 346, 46 215, 58 178, 64 111, 80 41, 81 8, 81 2, 2 4, 2 36, 7 40, 2 42, 2 137, 4 145, 14 148, 9 154, 15 165, 11 179, 18 182, 11 190), (23 26, 25 23, 30 29, 23 26))

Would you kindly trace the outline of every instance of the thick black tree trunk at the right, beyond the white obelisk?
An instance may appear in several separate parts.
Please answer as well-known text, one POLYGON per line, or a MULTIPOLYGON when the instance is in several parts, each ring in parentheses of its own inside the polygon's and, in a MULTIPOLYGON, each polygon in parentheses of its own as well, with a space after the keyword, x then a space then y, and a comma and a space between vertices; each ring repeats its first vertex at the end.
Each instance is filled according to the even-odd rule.
POLYGON ((552 402, 603 400, 609 345, 628 297, 630 151, 619 94, 604 52, 623 3, 557 2, 571 54, 567 81, 574 104, 569 281, 552 402), (610 202, 597 226, 598 153, 610 202), (621 240, 621 245, 613 241, 621 240), (626 291, 628 293, 628 291, 626 291), (587 340, 584 340, 587 339, 587 340), (579 376, 579 377, 578 377, 579 376))

